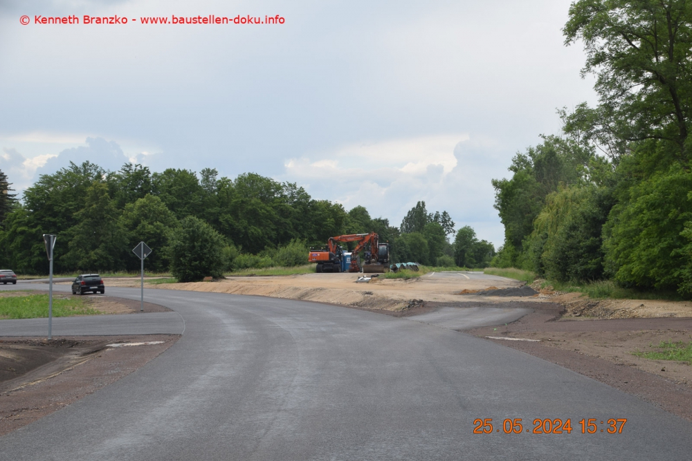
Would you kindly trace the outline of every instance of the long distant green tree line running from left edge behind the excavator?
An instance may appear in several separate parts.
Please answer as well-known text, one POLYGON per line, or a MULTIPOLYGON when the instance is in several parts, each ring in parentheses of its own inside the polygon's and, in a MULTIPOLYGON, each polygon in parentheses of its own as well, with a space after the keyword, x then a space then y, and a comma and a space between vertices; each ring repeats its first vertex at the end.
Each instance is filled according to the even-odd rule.
POLYGON ((131 249, 145 241, 154 249, 147 270, 171 270, 181 280, 304 264, 309 246, 340 234, 377 232, 392 244, 394 261, 471 266, 488 263, 493 254, 470 227, 459 231, 465 239, 450 243, 449 214, 428 214, 424 202, 408 213, 406 232, 400 232, 385 218, 371 218, 365 207, 346 211, 291 182, 255 173, 230 180, 215 169, 152 173, 125 164, 105 171, 87 161, 41 176, 21 203, 1 172, 0 182, 8 191, 0 201, 0 266, 20 273, 47 272, 42 234, 57 234, 58 273, 137 270, 131 249))

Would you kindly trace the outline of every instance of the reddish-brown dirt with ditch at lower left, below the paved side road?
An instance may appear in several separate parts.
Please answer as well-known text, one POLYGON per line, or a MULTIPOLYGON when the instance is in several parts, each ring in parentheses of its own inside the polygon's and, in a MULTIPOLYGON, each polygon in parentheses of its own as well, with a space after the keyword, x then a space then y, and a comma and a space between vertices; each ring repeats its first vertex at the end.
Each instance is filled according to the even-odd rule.
POLYGON ((129 375, 179 335, 0 338, 0 435, 129 375), (141 346, 109 344, 158 342, 141 346))

